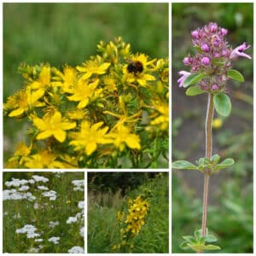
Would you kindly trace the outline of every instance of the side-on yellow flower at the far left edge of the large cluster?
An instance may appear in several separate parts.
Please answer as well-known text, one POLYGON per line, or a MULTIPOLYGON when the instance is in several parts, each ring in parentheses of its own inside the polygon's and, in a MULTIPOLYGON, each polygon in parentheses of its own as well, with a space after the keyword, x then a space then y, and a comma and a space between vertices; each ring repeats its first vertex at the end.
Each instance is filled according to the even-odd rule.
POLYGON ((9 96, 4 108, 15 108, 9 113, 9 117, 20 117, 29 109, 43 107, 44 103, 38 102, 42 96, 44 96, 44 90, 32 92, 30 87, 27 87, 26 90, 19 90, 14 96, 9 96))

